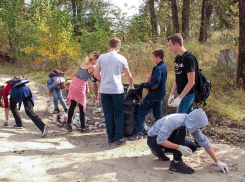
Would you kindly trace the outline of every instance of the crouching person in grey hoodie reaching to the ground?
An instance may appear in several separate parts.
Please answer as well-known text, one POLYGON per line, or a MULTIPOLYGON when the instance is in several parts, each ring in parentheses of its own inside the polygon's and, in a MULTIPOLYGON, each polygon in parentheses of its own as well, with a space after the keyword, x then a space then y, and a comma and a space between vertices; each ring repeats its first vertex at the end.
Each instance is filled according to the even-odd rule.
POLYGON ((197 149, 195 143, 185 138, 187 134, 192 134, 218 167, 224 173, 228 173, 228 166, 219 161, 213 147, 201 131, 207 125, 208 118, 203 109, 195 109, 189 114, 171 114, 156 121, 148 130, 147 144, 159 158, 164 157, 165 152, 173 152, 171 171, 192 174, 195 171, 182 160, 182 155, 190 156, 197 149))

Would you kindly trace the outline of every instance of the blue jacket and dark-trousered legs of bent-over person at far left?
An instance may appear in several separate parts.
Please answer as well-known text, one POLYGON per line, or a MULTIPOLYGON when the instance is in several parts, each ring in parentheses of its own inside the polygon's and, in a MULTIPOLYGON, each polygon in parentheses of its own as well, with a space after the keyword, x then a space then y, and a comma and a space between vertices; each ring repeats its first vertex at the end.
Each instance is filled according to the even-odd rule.
MULTIPOLYGON (((28 81, 28 80, 25 80, 28 81)), ((17 103, 23 102, 26 115, 35 123, 35 125, 41 130, 41 137, 45 137, 48 133, 48 125, 44 124, 40 117, 34 112, 34 99, 29 87, 25 84, 15 86, 11 89, 10 96, 10 110, 14 116, 16 125, 14 128, 22 129, 23 123, 19 111, 17 109, 17 103)))

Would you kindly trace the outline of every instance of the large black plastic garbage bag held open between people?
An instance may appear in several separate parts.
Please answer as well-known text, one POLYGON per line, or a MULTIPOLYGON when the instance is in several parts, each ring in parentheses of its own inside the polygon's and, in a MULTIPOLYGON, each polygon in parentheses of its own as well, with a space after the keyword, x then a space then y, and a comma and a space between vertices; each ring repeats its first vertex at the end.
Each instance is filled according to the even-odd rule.
POLYGON ((133 90, 128 89, 128 84, 124 84, 124 123, 123 123, 123 135, 130 136, 134 133, 135 124, 137 121, 137 109, 140 105, 143 89, 140 85, 135 84, 133 90))

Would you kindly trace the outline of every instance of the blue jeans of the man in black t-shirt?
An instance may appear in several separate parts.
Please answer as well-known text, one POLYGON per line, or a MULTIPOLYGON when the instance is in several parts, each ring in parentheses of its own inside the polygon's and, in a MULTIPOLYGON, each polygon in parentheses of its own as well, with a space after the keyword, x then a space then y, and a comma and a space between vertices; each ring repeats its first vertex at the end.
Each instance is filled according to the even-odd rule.
POLYGON ((195 99, 195 93, 193 94, 187 94, 180 102, 179 107, 177 108, 176 113, 184 113, 189 114, 191 111, 193 111, 192 103, 195 99))

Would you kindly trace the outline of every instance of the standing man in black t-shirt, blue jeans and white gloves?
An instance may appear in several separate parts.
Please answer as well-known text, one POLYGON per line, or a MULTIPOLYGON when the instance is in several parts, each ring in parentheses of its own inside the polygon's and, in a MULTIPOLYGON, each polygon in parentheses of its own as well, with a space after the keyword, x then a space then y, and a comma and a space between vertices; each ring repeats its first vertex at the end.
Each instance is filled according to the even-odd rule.
POLYGON ((195 70, 196 60, 183 45, 183 37, 175 33, 168 38, 169 49, 175 58, 175 81, 172 86, 168 106, 177 107, 176 113, 190 113, 193 110, 192 103, 195 99, 195 70), (184 60, 183 60, 184 58, 184 60), (178 97, 174 99, 174 94, 178 97))

